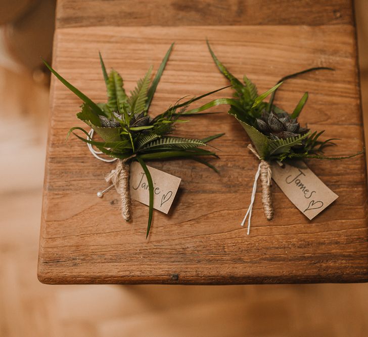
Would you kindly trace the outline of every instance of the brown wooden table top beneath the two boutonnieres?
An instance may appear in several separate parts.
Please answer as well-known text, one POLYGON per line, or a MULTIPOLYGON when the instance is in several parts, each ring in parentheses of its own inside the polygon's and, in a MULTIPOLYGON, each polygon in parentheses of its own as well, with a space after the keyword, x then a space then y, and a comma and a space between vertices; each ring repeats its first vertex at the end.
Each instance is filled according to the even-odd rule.
MULTIPOLYGON (((110 3, 112 7, 118 4, 110 3)), ((126 11, 138 9, 133 5, 131 9, 121 6, 121 13, 127 17, 126 26, 116 20, 113 12, 113 26, 109 26, 107 15, 112 9, 103 2, 59 1, 54 67, 90 98, 104 101, 99 50, 106 66, 119 71, 125 79, 125 88, 131 90, 151 64, 157 70, 170 43, 175 41, 151 106, 156 114, 180 97, 198 96, 228 84, 208 53, 206 37, 229 70, 238 78, 247 74, 260 92, 285 74, 313 66, 331 66, 336 71, 318 71, 285 83, 276 104, 290 111, 308 91, 309 100, 300 121, 308 123, 312 130, 327 129, 326 138, 342 139, 329 154, 349 154, 362 149, 351 4, 347 8, 345 1, 335 1, 333 5, 321 1, 318 6, 310 6, 310 2, 301 1, 300 7, 290 14, 290 21, 275 21, 271 16, 271 25, 258 25, 268 23, 262 14, 253 19, 252 25, 245 26, 241 25, 241 19, 249 16, 248 5, 258 6, 257 2, 246 2, 247 11, 237 12, 237 2, 228 1, 230 9, 226 11, 238 18, 236 25, 231 26, 221 8, 218 22, 213 21, 213 15, 201 21, 202 14, 197 12, 194 21, 190 21, 190 8, 184 2, 169 3, 172 11, 182 12, 178 15, 182 24, 170 19, 167 24, 170 28, 151 26, 157 24, 155 20, 162 13, 157 9, 146 10, 146 21, 140 16, 134 25, 126 11), (80 9, 78 14, 75 6, 80 9), (96 6, 100 6, 100 11, 96 6), (306 14, 307 8, 311 13, 306 14), (101 20, 95 22, 93 17, 97 13, 101 14, 101 20), (300 25, 296 24, 298 15, 303 18, 300 25), (206 25, 199 25, 201 22, 206 25)), ((213 11, 215 4, 220 4, 205 3, 211 3, 213 11)), ((286 2, 279 3, 287 8, 286 2)), ((278 7, 273 10, 280 12, 278 7)), ((231 94, 227 90, 213 98, 231 94)), ((213 142, 221 152, 220 159, 211 162, 220 174, 185 160, 149 162, 182 181, 169 214, 154 212, 146 240, 147 206, 133 201, 133 221, 124 223, 115 190, 102 199, 96 197, 96 192, 107 186, 103 177, 114 164, 95 159, 74 137, 65 143, 71 127, 83 126, 75 116, 80 100, 53 78, 50 102, 38 264, 41 282, 241 284, 368 279, 363 155, 349 160, 307 161, 311 170, 339 195, 312 221, 273 184, 275 215, 267 222, 258 190, 251 233, 247 236, 240 221, 250 201, 258 165, 247 149, 249 139, 241 125, 226 114, 226 106, 216 109, 221 114, 191 117, 186 133, 178 127, 175 135, 205 137, 226 133, 213 142)))

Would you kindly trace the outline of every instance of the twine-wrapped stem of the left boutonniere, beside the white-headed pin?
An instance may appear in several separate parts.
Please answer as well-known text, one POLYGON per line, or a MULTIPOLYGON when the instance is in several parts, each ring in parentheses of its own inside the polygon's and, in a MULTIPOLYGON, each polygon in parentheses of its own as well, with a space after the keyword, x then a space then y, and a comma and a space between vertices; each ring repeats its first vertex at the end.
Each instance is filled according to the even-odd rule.
POLYGON ((106 177, 107 182, 112 182, 116 191, 120 194, 121 199, 121 215, 125 221, 131 219, 131 199, 129 191, 130 166, 123 160, 119 159, 115 167, 106 177))

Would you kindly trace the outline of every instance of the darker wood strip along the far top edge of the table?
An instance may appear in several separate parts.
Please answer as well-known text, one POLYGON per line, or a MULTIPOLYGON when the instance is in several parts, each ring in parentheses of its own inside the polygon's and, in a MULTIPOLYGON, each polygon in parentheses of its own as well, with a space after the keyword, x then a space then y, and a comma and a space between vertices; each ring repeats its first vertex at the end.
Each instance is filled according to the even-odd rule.
POLYGON ((57 28, 352 24, 351 0, 59 0, 57 28))

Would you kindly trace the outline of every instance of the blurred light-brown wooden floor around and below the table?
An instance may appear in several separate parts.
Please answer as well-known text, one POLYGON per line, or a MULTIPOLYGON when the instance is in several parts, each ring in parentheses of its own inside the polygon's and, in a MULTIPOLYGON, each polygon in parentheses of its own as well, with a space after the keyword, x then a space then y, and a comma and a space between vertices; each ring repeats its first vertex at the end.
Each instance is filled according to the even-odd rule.
MULTIPOLYGON (((357 5, 362 6, 359 21, 368 6, 362 1, 357 5)), ((360 31, 359 39, 368 38, 366 31, 360 31)), ((365 92, 366 51, 366 46, 360 47, 365 92)), ((363 95, 366 115, 367 97, 363 95)), ((36 266, 47 111, 47 90, 35 86, 29 76, 0 68, 1 337, 368 335, 368 284, 39 283, 36 266)))

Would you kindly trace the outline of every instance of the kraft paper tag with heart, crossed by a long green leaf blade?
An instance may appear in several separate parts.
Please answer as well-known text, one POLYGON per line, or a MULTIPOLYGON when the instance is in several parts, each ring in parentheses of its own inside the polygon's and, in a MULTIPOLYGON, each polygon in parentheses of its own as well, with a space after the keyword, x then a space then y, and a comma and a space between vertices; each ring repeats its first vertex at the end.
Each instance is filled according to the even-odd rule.
MULTIPOLYGON (((167 214, 175 198, 181 179, 151 166, 147 167, 153 180, 153 207, 167 214)), ((129 186, 131 198, 145 205, 149 205, 150 195, 147 178, 141 164, 136 161, 130 165, 129 186)))

